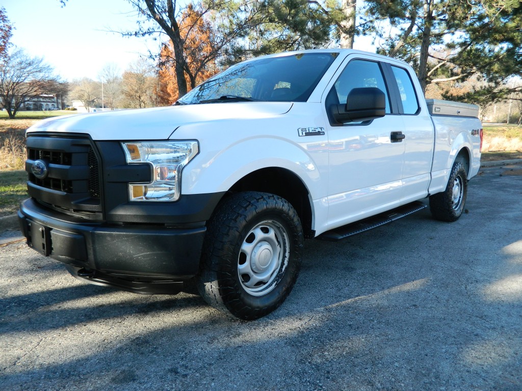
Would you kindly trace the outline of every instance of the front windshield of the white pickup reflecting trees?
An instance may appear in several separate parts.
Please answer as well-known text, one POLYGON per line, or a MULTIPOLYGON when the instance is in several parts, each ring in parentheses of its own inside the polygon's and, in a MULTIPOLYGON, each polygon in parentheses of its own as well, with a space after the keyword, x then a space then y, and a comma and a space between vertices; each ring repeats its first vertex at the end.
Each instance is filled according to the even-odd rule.
POLYGON ((240 63, 200 84, 178 102, 306 102, 337 55, 303 53, 240 63))

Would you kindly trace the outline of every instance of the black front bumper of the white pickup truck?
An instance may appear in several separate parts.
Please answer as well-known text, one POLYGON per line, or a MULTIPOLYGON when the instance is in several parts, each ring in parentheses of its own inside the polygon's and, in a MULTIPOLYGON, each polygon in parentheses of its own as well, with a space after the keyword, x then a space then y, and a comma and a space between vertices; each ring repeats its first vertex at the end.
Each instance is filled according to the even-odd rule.
POLYGON ((176 293, 198 272, 204 223, 108 225, 46 209, 32 199, 21 204, 20 227, 27 243, 68 265, 87 282, 137 293, 176 293))

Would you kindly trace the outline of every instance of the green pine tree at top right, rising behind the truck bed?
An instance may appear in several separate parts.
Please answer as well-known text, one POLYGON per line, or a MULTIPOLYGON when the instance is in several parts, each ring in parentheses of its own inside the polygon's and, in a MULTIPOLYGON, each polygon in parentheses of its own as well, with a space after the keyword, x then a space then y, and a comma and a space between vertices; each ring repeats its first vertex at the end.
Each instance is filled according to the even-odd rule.
POLYGON ((521 69, 519 0, 367 0, 379 52, 409 62, 423 89, 480 75, 500 82, 521 69), (390 28, 391 27, 391 28, 390 28))

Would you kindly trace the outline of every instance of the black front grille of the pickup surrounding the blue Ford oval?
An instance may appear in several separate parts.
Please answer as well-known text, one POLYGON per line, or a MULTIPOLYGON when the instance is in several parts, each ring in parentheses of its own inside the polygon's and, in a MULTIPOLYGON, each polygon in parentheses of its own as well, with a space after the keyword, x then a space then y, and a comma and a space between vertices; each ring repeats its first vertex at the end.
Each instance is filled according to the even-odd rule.
POLYGON ((69 214, 99 217, 100 163, 89 139, 28 137, 26 171, 29 194, 35 200, 69 214), (32 172, 37 160, 47 168, 43 178, 37 178, 32 172))

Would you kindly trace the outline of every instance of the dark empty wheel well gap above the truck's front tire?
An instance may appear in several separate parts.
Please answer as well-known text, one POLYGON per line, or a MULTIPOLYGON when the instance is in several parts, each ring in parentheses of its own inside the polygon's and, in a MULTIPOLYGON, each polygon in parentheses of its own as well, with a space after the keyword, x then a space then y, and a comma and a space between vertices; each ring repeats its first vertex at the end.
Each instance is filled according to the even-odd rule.
POLYGON ((229 192, 262 191, 284 198, 299 215, 305 238, 314 237, 309 192, 301 179, 285 168, 269 167, 254 171, 236 182, 229 192))

